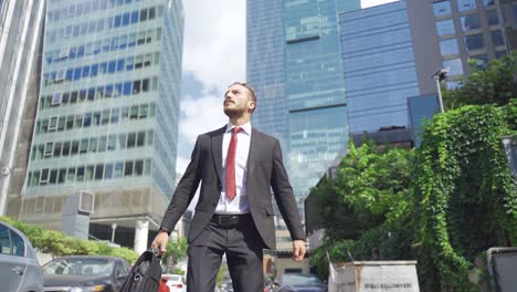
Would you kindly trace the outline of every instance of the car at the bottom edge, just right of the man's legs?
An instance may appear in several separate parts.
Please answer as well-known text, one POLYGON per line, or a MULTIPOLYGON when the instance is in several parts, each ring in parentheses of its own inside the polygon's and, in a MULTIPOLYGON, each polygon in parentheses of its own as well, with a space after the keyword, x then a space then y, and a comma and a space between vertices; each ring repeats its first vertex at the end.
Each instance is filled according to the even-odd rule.
POLYGON ((275 292, 327 292, 327 285, 309 273, 285 273, 274 282, 275 292))

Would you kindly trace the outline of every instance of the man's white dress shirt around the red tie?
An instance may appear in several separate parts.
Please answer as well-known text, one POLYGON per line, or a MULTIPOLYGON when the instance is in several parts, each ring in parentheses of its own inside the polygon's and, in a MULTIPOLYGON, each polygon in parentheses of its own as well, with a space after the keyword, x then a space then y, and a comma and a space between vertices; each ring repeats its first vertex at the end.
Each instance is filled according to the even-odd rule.
POLYGON ((220 215, 235 215, 235 213, 247 213, 250 207, 247 206, 247 189, 246 189, 246 177, 247 177, 247 155, 250 154, 250 140, 251 140, 251 124, 244 124, 241 126, 242 131, 238 135, 238 144, 235 152, 235 188, 236 196, 233 200, 226 197, 226 156, 228 148, 230 147, 230 140, 232 138, 232 128, 235 126, 232 123, 228 123, 226 131, 223 136, 222 145, 222 185, 223 189, 219 197, 218 207, 215 213, 220 215))

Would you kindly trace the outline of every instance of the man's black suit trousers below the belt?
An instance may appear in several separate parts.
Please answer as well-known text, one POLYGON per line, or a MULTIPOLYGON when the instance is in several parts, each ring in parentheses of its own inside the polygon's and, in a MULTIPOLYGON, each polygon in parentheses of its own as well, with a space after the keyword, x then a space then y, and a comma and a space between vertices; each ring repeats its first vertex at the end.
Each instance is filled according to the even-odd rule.
POLYGON ((251 216, 228 227, 210 221, 189 246, 187 291, 213 292, 215 277, 225 253, 233 290, 263 292, 263 248, 264 242, 251 216))

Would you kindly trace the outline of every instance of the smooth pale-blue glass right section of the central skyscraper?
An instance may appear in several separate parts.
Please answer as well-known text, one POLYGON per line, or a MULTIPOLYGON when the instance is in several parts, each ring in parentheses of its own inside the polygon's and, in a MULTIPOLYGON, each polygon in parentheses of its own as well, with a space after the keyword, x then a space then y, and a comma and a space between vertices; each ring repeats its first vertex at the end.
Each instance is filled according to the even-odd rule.
POLYGON ((303 199, 348 140, 337 13, 360 1, 284 1, 288 170, 303 199))

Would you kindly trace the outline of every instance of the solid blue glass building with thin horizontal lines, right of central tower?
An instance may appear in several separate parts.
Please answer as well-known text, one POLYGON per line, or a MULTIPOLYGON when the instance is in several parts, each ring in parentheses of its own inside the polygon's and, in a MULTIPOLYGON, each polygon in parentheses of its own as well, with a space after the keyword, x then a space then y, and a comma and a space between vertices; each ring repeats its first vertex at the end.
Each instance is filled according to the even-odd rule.
POLYGON ((350 134, 408 127, 420 90, 405 1, 340 13, 339 27, 350 134))

